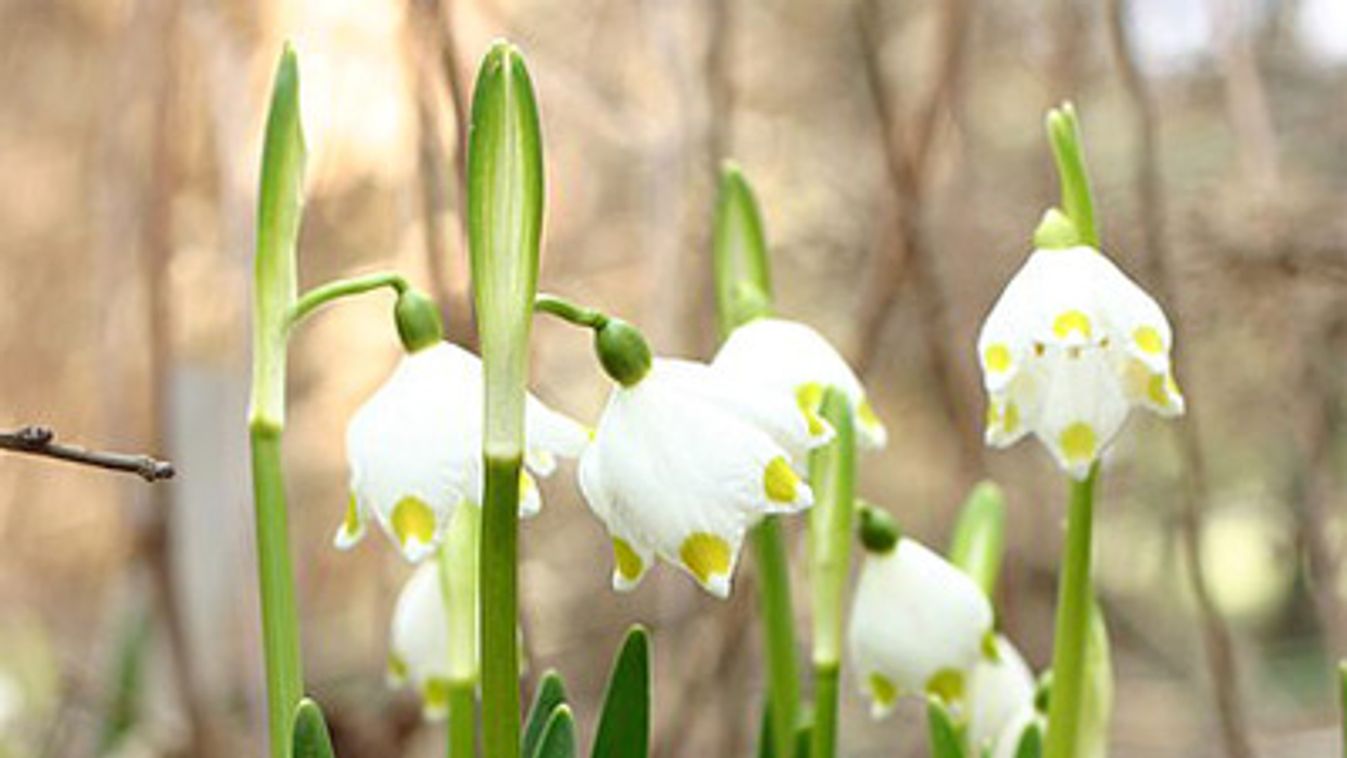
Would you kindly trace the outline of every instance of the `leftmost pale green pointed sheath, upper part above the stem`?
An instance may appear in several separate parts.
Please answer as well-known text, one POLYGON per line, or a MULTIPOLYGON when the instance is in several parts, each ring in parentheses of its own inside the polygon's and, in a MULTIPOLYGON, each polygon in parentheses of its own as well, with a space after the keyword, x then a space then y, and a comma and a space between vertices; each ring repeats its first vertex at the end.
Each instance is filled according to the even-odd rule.
POLYGON ((253 260, 253 424, 286 423, 286 329, 295 302, 295 246, 303 213, 304 135, 299 118, 299 63, 286 44, 272 83, 263 137, 253 260))

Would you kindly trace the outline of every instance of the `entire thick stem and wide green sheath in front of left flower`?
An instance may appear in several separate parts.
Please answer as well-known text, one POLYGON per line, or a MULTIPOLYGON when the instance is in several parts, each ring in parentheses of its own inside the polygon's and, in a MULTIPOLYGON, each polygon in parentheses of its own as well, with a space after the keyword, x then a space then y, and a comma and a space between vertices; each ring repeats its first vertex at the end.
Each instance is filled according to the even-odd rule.
POLYGON ((519 497, 528 335, 543 230, 543 141, 524 58, 496 42, 482 59, 467 139, 467 244, 482 346, 482 745, 520 751, 519 497))

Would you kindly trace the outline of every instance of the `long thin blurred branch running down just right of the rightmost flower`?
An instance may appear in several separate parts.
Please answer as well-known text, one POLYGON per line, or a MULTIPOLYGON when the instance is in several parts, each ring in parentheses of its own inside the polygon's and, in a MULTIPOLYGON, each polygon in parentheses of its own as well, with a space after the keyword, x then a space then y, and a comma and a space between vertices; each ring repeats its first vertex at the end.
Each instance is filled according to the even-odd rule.
MULTIPOLYGON (((1195 345, 1196 335, 1184 318, 1183 300, 1175 287, 1172 253, 1169 249, 1168 218, 1165 213, 1164 183, 1160 175, 1160 123, 1156 113, 1154 96, 1137 65, 1136 50, 1130 39, 1127 7, 1125 0, 1109 0, 1106 23, 1114 61, 1122 75, 1123 89, 1136 112, 1136 191, 1141 207, 1141 228, 1144 230, 1146 257, 1144 271, 1148 284, 1162 303, 1168 303, 1179 315, 1175 319, 1175 342, 1195 345)), ((1192 376, 1188 361, 1191 350, 1176 358, 1179 376, 1192 376)), ((1188 584, 1197 605, 1202 623, 1202 646, 1211 675, 1211 692, 1220 720, 1222 740, 1226 754, 1231 758, 1251 758, 1253 746, 1249 739, 1249 719, 1243 708, 1239 669, 1230 638, 1230 627, 1212 600, 1211 590, 1203 571, 1202 535, 1203 512, 1210 502, 1211 490, 1207 482, 1206 455, 1199 438, 1199 416, 1189 408, 1188 416, 1177 424, 1167 424, 1177 436, 1181 458, 1181 486, 1176 490, 1179 505, 1180 543, 1184 547, 1188 584)))

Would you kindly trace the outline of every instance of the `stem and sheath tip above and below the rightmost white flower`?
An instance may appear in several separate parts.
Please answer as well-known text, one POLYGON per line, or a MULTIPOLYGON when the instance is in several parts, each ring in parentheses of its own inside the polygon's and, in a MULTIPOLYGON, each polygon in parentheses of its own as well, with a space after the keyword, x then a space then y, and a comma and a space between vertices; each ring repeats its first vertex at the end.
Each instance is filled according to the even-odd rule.
MULTIPOLYGON (((1098 248, 1094 201, 1075 108, 1063 104, 1047 116, 1048 141, 1061 180, 1061 210, 1080 244, 1098 248)), ((1051 211, 1049 211, 1051 215, 1051 211)), ((1047 225, 1045 218, 1045 225, 1047 225)), ((1036 237, 1040 234, 1036 234, 1036 237)), ((1052 641, 1052 696, 1048 705, 1047 758, 1074 758, 1084 712, 1087 645, 1094 607, 1091 540, 1094 490, 1099 464, 1083 481, 1071 481, 1067 535, 1057 582, 1057 614, 1052 641)))

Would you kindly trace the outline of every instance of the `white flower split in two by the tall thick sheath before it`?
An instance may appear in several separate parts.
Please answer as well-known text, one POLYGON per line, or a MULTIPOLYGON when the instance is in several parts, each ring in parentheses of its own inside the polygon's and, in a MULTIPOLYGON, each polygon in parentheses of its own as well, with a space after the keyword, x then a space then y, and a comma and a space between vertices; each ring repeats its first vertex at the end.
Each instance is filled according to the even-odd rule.
MULTIPOLYGON (((579 455, 589 435, 532 394, 524 425, 520 513, 531 516, 541 501, 528 471, 551 474, 555 455, 579 455)), ((350 499, 334 543, 354 545, 373 514, 407 560, 431 555, 454 509, 481 501, 481 359, 447 342, 404 355, 346 428, 350 499)))

